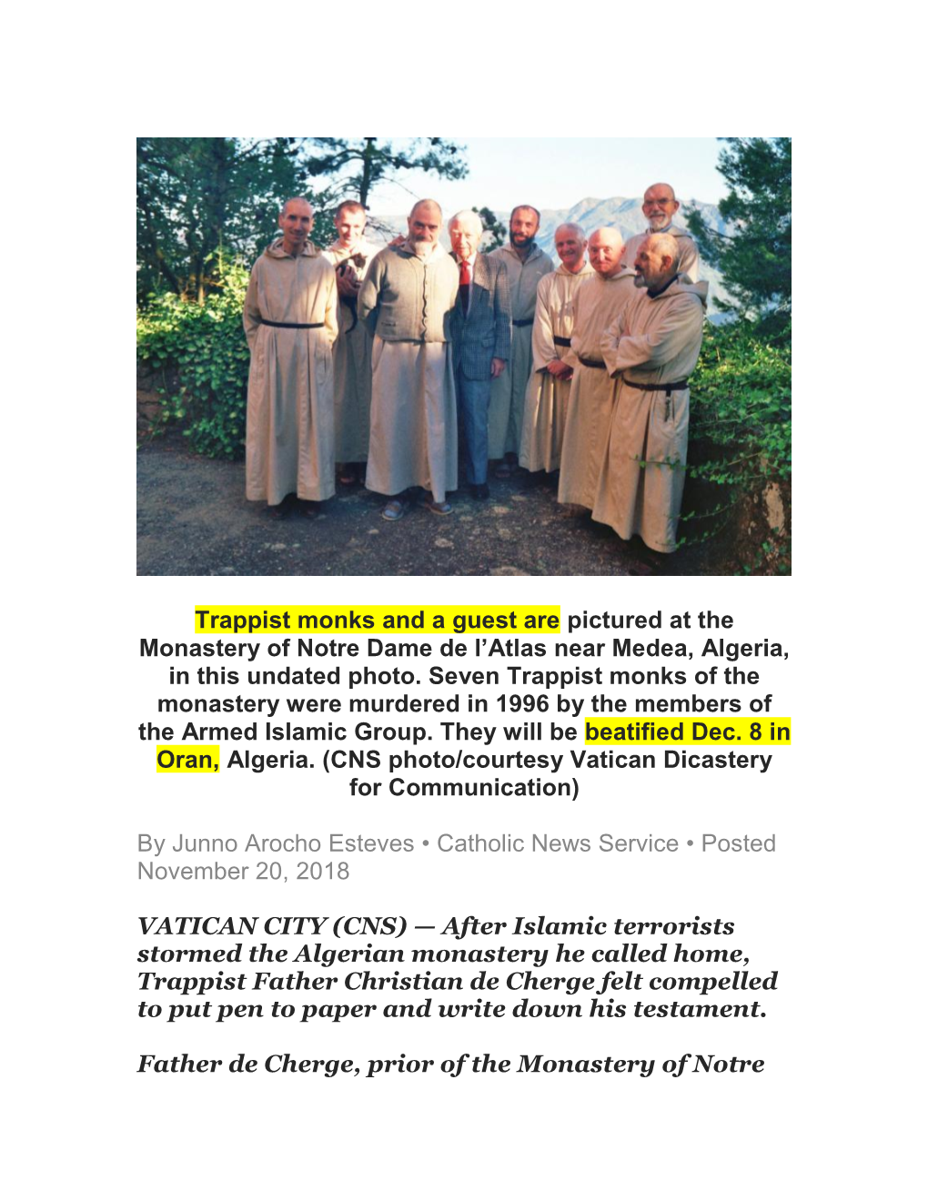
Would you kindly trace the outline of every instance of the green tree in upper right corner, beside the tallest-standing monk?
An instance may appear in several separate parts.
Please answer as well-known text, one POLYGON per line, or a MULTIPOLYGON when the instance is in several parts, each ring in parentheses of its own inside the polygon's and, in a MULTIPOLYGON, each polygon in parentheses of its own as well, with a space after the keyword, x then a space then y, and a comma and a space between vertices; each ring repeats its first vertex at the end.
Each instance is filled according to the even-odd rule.
POLYGON ((792 310, 792 139, 720 141, 728 147, 718 169, 731 191, 719 211, 732 232, 710 229, 688 208, 689 229, 734 298, 720 307, 761 319, 771 335, 783 335, 792 310))

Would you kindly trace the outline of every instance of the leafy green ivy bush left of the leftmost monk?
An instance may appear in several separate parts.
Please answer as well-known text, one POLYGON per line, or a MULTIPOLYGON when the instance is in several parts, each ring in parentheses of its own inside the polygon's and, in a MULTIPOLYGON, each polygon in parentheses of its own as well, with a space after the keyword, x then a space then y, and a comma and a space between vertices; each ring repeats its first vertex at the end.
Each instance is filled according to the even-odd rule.
POLYGON ((170 293, 136 315, 139 364, 160 381, 162 422, 176 423, 211 459, 239 459, 245 447, 249 343, 241 310, 249 273, 228 267, 204 303, 170 293))

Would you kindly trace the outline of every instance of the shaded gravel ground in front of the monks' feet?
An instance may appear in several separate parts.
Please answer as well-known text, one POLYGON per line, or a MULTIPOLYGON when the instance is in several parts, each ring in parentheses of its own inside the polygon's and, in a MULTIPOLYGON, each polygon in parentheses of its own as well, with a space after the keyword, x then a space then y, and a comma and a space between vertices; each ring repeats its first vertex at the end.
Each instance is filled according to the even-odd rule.
POLYGON ((139 575, 713 575, 702 548, 652 555, 557 503, 556 483, 517 472, 489 501, 449 497, 450 516, 413 506, 396 522, 382 497, 342 488, 318 514, 268 516, 245 500, 240 462, 191 454, 181 438, 143 444, 137 466, 139 575))

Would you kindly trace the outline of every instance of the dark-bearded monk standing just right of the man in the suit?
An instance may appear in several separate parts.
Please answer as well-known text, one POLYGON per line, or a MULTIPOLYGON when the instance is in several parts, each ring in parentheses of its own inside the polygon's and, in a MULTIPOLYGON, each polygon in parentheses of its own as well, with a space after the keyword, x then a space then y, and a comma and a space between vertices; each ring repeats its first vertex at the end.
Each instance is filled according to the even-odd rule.
POLYGON ((513 313, 513 345, 509 368, 493 380, 490 390, 490 458, 505 460, 497 468, 501 478, 517 465, 522 446, 522 411, 528 377, 532 374, 532 324, 538 285, 555 269, 547 255, 535 245, 541 223, 538 209, 522 204, 509 217, 509 244, 490 253, 509 276, 509 305, 513 313))

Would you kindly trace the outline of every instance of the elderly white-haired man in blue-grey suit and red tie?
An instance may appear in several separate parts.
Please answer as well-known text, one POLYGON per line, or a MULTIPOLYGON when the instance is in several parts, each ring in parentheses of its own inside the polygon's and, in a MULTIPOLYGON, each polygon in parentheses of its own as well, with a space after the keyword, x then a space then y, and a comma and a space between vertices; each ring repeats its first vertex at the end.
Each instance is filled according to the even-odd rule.
POLYGON ((451 342, 467 483, 474 500, 485 501, 490 384, 505 371, 511 340, 509 277, 503 263, 478 252, 484 226, 475 213, 456 214, 448 233, 460 271, 451 342))

